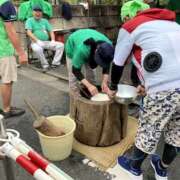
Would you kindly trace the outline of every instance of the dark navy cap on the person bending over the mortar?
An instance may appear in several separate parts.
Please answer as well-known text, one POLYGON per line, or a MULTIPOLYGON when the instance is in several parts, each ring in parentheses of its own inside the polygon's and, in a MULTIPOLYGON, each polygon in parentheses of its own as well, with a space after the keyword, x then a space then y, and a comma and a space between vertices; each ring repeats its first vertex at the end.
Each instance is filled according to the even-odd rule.
POLYGON ((108 68, 114 57, 114 47, 107 42, 98 45, 95 52, 95 62, 102 68, 108 68))

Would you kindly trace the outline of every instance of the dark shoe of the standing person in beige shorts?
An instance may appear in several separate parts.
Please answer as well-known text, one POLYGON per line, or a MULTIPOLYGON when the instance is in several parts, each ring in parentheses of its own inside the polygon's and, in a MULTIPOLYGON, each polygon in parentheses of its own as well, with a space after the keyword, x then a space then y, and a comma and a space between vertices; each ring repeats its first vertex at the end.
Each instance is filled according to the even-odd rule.
POLYGON ((5 119, 14 117, 14 116, 21 116, 25 113, 24 109, 17 108, 17 107, 11 107, 8 112, 1 111, 0 114, 4 116, 5 119))

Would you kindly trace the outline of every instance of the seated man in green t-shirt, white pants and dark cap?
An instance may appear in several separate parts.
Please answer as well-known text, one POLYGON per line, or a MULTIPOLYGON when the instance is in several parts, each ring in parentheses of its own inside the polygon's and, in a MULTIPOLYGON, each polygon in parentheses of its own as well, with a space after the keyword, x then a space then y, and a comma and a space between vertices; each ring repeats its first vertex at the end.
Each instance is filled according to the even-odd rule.
POLYGON ((49 63, 44 55, 44 49, 55 51, 54 59, 51 67, 56 68, 61 64, 61 58, 64 51, 64 44, 55 41, 54 32, 51 24, 47 19, 42 18, 42 8, 40 6, 33 7, 33 17, 26 21, 25 28, 27 35, 30 37, 32 43, 32 50, 36 53, 41 61, 43 72, 49 69, 49 63))

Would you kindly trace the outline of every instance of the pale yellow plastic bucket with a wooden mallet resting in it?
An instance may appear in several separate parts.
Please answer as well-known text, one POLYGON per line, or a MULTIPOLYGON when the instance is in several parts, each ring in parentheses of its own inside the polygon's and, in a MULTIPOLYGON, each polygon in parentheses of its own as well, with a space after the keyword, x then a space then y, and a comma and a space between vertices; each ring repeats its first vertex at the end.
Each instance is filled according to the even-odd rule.
POLYGON ((51 161, 63 160, 71 154, 76 124, 68 116, 50 116, 47 119, 61 127, 65 131, 65 135, 50 137, 37 131, 42 152, 51 161))

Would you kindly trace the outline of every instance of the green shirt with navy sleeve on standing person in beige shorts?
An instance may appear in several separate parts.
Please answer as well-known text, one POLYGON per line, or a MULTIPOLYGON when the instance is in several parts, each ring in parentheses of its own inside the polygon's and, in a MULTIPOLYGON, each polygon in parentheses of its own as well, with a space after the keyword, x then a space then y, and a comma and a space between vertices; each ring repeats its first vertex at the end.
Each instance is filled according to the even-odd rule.
POLYGON ((16 10, 8 0, 0 0, 0 58, 13 56, 14 47, 9 40, 4 23, 16 20, 16 10))

